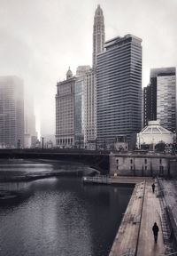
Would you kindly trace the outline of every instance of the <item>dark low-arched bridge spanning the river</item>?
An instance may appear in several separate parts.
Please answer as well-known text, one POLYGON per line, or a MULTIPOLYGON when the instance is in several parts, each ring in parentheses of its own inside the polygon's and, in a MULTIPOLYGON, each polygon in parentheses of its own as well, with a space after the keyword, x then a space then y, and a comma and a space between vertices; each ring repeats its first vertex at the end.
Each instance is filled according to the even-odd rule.
POLYGON ((109 151, 70 148, 1 148, 0 158, 49 159, 89 165, 101 174, 109 173, 109 151))

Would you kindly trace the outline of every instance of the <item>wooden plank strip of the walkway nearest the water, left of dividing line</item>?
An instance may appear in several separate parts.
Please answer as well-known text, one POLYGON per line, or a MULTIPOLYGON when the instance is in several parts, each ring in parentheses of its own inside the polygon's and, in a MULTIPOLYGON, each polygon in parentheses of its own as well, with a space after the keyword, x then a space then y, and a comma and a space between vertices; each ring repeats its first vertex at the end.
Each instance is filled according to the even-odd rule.
POLYGON ((144 189, 145 181, 135 185, 109 256, 126 255, 126 253, 135 255, 142 218, 144 189))

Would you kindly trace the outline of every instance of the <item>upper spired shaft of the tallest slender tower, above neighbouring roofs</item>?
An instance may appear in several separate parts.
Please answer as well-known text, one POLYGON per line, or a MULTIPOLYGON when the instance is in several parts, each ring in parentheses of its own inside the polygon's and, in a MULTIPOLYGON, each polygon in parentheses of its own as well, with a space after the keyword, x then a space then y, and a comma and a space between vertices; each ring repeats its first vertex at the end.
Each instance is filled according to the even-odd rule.
POLYGON ((96 68, 96 55, 104 51, 104 13, 100 5, 97 5, 93 28, 93 68, 96 68))

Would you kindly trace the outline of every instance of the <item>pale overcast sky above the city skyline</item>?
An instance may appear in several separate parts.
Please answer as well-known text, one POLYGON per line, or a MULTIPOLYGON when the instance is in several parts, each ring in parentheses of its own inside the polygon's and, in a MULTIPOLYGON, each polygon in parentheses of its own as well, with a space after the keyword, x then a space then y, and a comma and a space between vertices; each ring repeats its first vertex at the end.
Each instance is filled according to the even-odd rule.
POLYGON ((0 76, 19 76, 35 101, 39 134, 55 134, 57 82, 92 65, 97 4, 105 40, 142 38, 142 87, 150 68, 177 66, 177 0, 0 0, 0 76))

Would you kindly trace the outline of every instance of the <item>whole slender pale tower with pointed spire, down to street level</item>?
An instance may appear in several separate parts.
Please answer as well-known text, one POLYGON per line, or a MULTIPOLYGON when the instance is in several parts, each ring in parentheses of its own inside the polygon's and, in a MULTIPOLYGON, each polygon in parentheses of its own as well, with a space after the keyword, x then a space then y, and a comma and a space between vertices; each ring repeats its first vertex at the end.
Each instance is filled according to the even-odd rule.
POLYGON ((104 51, 104 14, 97 5, 93 26, 93 68, 87 72, 84 83, 84 142, 92 148, 96 144, 96 62, 97 54, 104 51))

